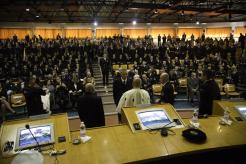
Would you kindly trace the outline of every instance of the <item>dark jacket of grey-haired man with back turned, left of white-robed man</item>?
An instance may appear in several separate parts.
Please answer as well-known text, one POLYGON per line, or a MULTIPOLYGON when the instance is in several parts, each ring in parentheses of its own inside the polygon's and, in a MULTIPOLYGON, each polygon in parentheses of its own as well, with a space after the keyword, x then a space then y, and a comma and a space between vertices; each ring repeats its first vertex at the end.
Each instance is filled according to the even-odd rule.
POLYGON ((87 128, 105 126, 105 118, 101 97, 85 94, 79 97, 78 113, 87 128))

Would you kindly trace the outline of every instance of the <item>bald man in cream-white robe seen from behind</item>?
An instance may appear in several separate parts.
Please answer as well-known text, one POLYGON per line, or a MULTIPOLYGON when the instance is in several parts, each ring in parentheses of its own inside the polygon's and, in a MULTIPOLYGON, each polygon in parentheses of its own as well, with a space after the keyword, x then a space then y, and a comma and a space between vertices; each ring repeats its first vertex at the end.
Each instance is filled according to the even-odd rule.
POLYGON ((116 108, 118 113, 121 113, 121 109, 123 107, 134 107, 140 104, 150 104, 149 93, 144 89, 140 89, 141 85, 142 80, 139 77, 133 79, 133 88, 126 91, 120 98, 119 104, 116 108))

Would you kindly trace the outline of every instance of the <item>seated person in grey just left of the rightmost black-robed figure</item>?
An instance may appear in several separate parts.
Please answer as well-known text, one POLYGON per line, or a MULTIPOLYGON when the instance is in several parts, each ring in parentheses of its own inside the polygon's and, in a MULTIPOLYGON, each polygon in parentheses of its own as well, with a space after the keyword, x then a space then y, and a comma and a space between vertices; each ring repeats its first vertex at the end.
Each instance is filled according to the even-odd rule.
POLYGON ((191 77, 188 79, 188 95, 190 97, 191 103, 194 102, 194 95, 197 96, 199 100, 199 79, 196 77, 196 73, 192 72, 191 77))

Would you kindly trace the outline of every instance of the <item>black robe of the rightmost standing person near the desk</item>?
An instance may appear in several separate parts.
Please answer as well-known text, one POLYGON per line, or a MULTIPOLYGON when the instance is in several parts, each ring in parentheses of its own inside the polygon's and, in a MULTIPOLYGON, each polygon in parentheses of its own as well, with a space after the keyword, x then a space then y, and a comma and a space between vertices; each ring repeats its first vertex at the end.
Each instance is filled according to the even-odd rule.
POLYGON ((199 114, 212 114, 213 100, 220 100, 220 89, 214 80, 208 80, 200 88, 199 114))

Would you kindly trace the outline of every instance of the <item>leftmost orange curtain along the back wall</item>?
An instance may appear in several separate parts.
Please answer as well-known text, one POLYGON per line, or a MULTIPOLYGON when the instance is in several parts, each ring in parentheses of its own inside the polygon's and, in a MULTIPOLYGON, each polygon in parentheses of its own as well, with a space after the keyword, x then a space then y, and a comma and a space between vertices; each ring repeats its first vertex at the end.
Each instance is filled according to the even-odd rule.
POLYGON ((24 39, 26 35, 32 34, 29 28, 0 28, 0 39, 12 38, 16 35, 19 39, 24 39))

